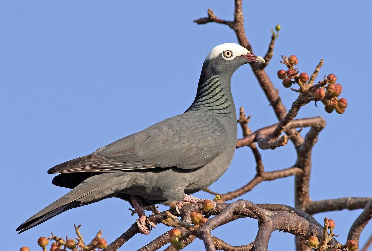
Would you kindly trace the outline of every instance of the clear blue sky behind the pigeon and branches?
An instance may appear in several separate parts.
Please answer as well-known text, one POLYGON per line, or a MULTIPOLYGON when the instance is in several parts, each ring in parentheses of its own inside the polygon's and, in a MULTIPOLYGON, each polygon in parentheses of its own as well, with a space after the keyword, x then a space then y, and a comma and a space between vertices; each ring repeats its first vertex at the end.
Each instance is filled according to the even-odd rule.
MULTIPOLYGON (((15 232, 23 221, 68 192, 51 184, 50 167, 189 107, 206 54, 218 44, 237 42, 227 26, 192 22, 206 16, 208 8, 221 19, 233 18, 231 1, 1 2, 0 225, 2 239, 12 245, 8 249, 26 245, 38 250, 38 237, 50 232, 75 237, 74 223, 82 224, 85 240, 102 229, 103 237, 112 242, 135 221, 128 202, 113 198, 71 209, 20 235, 15 232)), ((341 96, 349 103, 343 115, 328 114, 314 103, 298 114, 298 118, 327 120, 313 151, 314 200, 371 196, 371 8, 371 1, 243 3, 246 33, 256 55, 265 55, 270 29, 282 26, 266 70, 287 108, 296 93, 276 77, 283 68, 280 55, 296 55, 300 71, 309 75, 323 58, 319 79, 334 73, 343 85, 341 96)), ((240 67, 231 82, 235 105, 252 115, 251 129, 277 122, 249 66, 240 67)), ((261 153, 268 171, 289 167, 296 158, 291 143, 261 153)), ((238 149, 228 171, 211 189, 224 193, 243 186, 254 176, 254 167, 250 150, 238 149)), ((240 198, 293 206, 293 181, 290 177, 264 182, 240 198)), ((212 198, 204 192, 195 195, 212 198)), ((345 241, 359 214, 360 210, 328 212, 315 218, 320 222, 333 218, 338 240, 345 241)), ((159 225, 119 250, 137 250, 166 230, 159 225)), ((243 245, 254 239, 256 231, 256 220, 242 219, 212 233, 232 245, 243 245)), ((362 244, 371 232, 369 224, 362 244)), ((274 232, 269 250, 279 250, 276 245, 283 240, 294 247, 291 235, 274 232)), ((202 247, 196 240, 186 250, 202 247)))

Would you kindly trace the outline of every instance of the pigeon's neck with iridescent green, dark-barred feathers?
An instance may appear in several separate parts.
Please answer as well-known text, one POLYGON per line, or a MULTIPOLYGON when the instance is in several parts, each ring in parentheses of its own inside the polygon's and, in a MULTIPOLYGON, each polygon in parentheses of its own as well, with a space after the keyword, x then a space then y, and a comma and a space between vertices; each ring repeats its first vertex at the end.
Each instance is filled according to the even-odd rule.
POLYGON ((217 74, 202 75, 199 80, 198 90, 189 110, 205 110, 219 116, 232 116, 236 119, 234 100, 232 100, 231 76, 217 74))

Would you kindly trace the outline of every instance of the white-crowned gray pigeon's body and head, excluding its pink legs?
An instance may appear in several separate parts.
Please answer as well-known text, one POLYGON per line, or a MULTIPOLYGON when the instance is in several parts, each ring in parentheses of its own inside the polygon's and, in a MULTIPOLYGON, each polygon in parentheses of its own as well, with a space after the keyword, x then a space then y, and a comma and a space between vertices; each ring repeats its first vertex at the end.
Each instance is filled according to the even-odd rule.
POLYGON ((238 44, 216 46, 204 61, 195 100, 185 113, 49 169, 59 173, 53 184, 73 190, 16 231, 110 197, 132 203, 129 197, 135 195, 143 206, 182 201, 185 194, 217 181, 231 163, 237 139, 230 79, 252 61, 264 62, 238 44))

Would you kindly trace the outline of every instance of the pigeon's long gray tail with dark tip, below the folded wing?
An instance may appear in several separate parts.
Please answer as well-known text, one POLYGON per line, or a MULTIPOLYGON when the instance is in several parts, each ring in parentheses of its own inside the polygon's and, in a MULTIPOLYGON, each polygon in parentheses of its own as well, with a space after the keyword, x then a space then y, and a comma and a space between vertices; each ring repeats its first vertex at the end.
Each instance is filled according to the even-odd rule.
MULTIPOLYGON (((95 175, 100 176, 100 175, 95 175)), ((80 207, 83 205, 91 204, 111 196, 108 195, 107 190, 110 189, 110 182, 112 179, 98 182, 96 178, 90 177, 76 186, 68 194, 57 199, 57 201, 50 204, 48 207, 42 209, 31 218, 23 222, 16 231, 18 234, 41 224, 48 219, 67 211, 71 208, 80 207)))

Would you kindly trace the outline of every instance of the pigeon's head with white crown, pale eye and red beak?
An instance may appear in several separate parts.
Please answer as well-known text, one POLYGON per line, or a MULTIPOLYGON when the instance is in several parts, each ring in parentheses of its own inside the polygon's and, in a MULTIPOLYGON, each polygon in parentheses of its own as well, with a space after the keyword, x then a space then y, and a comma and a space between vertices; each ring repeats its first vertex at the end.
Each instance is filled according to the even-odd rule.
POLYGON ((215 73, 234 73, 238 67, 250 63, 265 63, 263 57, 253 55, 249 50, 236 43, 224 43, 214 47, 204 60, 205 67, 215 73))

